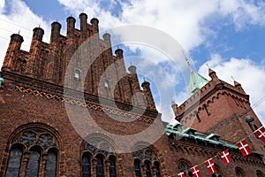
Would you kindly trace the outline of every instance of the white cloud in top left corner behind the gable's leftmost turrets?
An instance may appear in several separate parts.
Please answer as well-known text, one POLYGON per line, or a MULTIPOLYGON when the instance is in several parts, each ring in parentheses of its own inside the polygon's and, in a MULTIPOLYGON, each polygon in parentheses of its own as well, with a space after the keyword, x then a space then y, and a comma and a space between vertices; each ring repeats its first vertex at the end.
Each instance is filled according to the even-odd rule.
POLYGON ((0 2, 0 10, 2 10, 0 11, 0 46, 2 47, 0 51, 0 67, 3 64, 5 51, 10 41, 9 37, 12 34, 19 33, 22 35, 24 42, 22 43, 21 49, 29 50, 33 29, 41 25, 45 31, 43 41, 49 42, 49 25, 46 21, 35 15, 34 12, 27 7, 27 4, 21 0, 11 0, 9 5, 11 5, 10 11, 4 13, 4 1, 1 0, 0 2))

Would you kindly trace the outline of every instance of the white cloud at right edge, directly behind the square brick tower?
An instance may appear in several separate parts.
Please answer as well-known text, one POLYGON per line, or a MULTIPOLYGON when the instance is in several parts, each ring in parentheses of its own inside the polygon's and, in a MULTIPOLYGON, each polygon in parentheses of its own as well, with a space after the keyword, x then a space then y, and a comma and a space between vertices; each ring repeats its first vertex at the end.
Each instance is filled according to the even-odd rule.
MULTIPOLYGON (((225 61, 219 54, 213 54, 207 63, 210 68, 216 71, 217 76, 221 80, 233 85, 232 76, 235 81, 241 84, 246 94, 250 95, 250 102, 254 106, 254 111, 261 119, 261 122, 265 124, 265 100, 261 104, 256 105, 265 96, 264 65, 254 63, 249 58, 231 58, 225 61)), ((201 65, 199 73, 210 79, 205 65, 201 65)))

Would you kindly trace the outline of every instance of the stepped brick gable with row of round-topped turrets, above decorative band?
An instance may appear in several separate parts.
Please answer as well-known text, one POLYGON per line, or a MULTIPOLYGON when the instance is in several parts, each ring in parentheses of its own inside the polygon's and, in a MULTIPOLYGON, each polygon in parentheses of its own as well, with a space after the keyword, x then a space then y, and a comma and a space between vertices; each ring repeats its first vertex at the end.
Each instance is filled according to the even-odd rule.
POLYGON ((130 73, 126 72, 123 50, 117 49, 113 55, 110 34, 100 38, 99 20, 93 18, 88 23, 87 18, 86 13, 79 14, 78 29, 76 19, 68 17, 66 35, 61 34, 59 22, 51 23, 49 43, 42 41, 44 30, 35 27, 29 51, 20 49, 24 42, 21 35, 11 35, 2 73, 18 73, 59 86, 83 89, 95 96, 139 107, 148 104, 146 107, 156 112, 150 89, 140 89, 136 68, 131 71, 132 66, 130 73), (75 61, 71 62, 73 58, 75 61), (133 96, 134 93, 139 94, 133 96))

